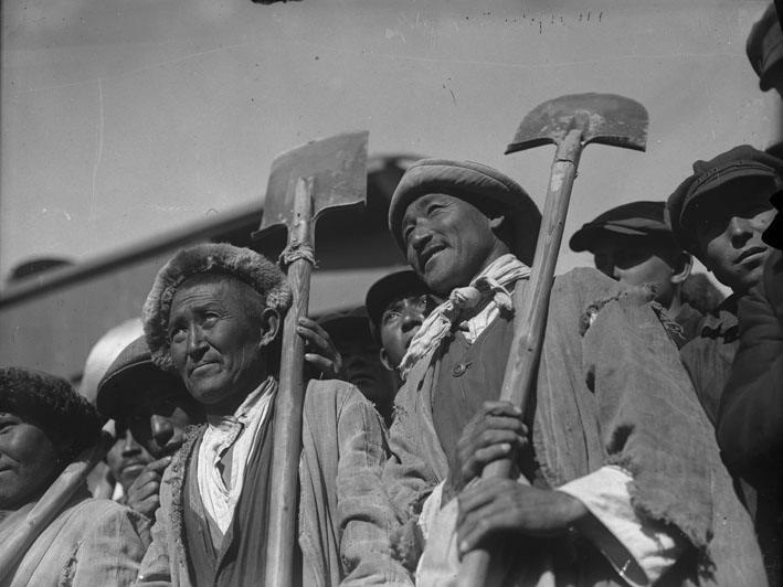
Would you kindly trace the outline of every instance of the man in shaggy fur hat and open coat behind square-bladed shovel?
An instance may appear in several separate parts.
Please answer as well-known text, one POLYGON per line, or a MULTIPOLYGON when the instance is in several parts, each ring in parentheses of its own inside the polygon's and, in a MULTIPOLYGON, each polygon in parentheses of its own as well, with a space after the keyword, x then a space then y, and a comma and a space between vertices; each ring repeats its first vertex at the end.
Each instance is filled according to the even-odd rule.
MULTIPOLYGON (((166 469, 139 584, 261 585, 274 450, 278 331, 290 303, 281 270, 225 244, 180 250, 144 306, 155 364, 203 406, 166 469)), ((362 522, 343 530, 356 495, 378 491, 381 424, 352 386, 311 381, 303 420, 298 508, 304 585, 336 585, 356 558, 362 522), (345 499, 343 499, 345 498, 345 499)), ((370 521, 383 525, 383 512, 370 521)), ((362 544, 364 544, 363 541, 362 544)), ((371 551, 366 549, 366 551, 371 551)), ((364 552, 367 554, 367 552, 364 552)))

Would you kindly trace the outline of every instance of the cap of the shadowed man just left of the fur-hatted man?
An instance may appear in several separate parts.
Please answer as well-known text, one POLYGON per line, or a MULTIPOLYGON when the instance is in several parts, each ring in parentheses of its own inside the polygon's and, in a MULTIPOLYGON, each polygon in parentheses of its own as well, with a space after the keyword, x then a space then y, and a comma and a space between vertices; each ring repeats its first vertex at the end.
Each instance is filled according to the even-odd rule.
POLYGON ((98 383, 98 394, 95 405, 98 412, 115 419, 121 419, 119 398, 124 393, 133 393, 139 384, 159 378, 170 384, 173 389, 180 389, 184 396, 188 391, 179 377, 155 366, 144 335, 128 344, 119 353, 106 374, 98 383))

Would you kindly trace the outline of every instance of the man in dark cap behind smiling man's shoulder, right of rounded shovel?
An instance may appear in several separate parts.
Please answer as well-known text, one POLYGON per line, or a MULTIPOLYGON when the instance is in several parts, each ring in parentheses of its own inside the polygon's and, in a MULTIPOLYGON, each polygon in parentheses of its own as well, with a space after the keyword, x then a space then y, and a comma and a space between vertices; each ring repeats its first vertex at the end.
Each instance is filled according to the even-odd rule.
POLYGON ((584 224, 569 246, 576 253, 591 252, 595 267, 622 284, 653 284, 656 301, 681 329, 676 340, 681 348, 696 337, 702 314, 722 297, 706 276, 686 288, 692 259, 675 242, 665 216, 663 201, 623 204, 584 224))

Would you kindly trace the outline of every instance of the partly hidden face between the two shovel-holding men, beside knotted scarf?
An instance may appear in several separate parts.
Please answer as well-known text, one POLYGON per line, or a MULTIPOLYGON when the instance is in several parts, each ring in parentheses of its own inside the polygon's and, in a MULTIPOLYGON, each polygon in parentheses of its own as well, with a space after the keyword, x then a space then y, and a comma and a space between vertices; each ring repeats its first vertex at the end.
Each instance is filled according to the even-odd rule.
POLYGON ((427 294, 399 298, 387 306, 379 328, 383 346, 381 357, 387 366, 400 365, 411 339, 419 332, 422 322, 435 306, 437 302, 427 294))

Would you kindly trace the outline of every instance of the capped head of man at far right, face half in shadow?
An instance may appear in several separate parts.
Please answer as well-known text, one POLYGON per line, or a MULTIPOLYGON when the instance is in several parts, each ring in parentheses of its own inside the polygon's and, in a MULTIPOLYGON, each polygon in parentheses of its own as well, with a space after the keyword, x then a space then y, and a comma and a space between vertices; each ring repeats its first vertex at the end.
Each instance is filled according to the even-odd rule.
POLYGON ((783 160, 749 145, 709 161, 669 196, 677 242, 723 285, 743 295, 761 277, 769 245, 762 233, 774 217, 770 198, 781 186, 783 160))

